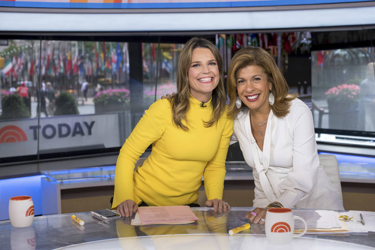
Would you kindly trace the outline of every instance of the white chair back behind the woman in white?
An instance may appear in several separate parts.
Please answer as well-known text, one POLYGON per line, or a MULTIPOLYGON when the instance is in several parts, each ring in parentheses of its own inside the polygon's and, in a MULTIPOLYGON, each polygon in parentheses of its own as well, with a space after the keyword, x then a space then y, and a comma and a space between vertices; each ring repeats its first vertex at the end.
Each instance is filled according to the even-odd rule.
POLYGON ((336 156, 333 154, 319 154, 320 164, 323 166, 324 172, 326 172, 331 184, 339 192, 339 198, 342 201, 342 191, 341 191, 341 181, 339 173, 339 164, 337 162, 336 156))

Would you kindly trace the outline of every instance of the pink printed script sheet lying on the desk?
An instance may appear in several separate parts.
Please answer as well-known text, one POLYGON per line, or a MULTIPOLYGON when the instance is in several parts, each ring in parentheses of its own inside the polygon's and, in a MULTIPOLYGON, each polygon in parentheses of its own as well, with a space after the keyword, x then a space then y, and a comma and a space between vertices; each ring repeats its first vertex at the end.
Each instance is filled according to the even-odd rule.
POLYGON ((199 220, 189 206, 139 207, 138 213, 143 225, 199 220))

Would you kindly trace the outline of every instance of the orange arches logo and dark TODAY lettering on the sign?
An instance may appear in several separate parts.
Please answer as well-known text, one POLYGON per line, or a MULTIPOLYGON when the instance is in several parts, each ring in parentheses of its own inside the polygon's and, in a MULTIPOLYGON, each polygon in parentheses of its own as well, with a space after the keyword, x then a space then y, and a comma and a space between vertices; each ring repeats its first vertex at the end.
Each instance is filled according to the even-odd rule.
MULTIPOLYGON (((64 138, 68 136, 75 137, 77 135, 92 135, 92 128, 95 121, 87 123, 86 121, 80 123, 76 122, 73 126, 67 123, 58 123, 57 126, 54 124, 46 124, 44 126, 39 126, 40 135, 45 139, 52 139, 55 136, 58 138, 64 138)), ((37 140, 38 126, 29 126, 29 129, 33 133, 34 141, 37 140)), ((22 142, 27 141, 27 136, 24 130, 20 127, 9 125, 0 129, 0 143, 9 142, 22 142)))

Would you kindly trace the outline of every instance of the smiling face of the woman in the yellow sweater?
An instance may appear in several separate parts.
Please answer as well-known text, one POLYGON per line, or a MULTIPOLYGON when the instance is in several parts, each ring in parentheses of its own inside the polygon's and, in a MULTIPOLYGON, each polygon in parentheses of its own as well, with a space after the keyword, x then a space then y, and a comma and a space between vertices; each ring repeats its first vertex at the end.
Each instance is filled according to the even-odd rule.
POLYGON ((220 78, 219 67, 210 49, 193 49, 188 76, 191 95, 201 102, 208 102, 220 78))

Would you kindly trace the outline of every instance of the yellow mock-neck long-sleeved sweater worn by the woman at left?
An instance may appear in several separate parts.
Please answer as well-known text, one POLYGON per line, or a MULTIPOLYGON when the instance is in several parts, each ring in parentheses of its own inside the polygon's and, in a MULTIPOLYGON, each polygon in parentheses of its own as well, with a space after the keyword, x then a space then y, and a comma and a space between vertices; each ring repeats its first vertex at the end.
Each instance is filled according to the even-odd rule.
POLYGON ((149 206, 197 203, 202 175, 208 200, 222 199, 233 118, 225 109, 217 124, 205 127, 203 121, 212 116, 211 100, 204 103, 207 107, 200 104, 190 96, 189 131, 175 126, 167 99, 157 100, 145 111, 118 155, 113 209, 127 199, 149 206), (133 171, 151 143, 150 156, 133 171))

